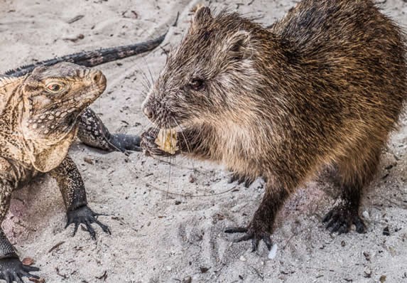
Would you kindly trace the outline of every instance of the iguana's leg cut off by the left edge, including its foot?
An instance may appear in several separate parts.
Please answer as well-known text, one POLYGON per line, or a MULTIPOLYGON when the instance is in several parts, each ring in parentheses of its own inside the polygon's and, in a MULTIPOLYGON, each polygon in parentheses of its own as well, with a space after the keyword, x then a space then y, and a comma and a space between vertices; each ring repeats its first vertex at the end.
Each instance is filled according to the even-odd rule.
MULTIPOLYGON (((13 187, 8 181, 0 181, 0 223, 3 223, 7 210, 9 210, 12 191, 13 187)), ((7 283, 23 282, 22 277, 25 276, 40 279, 37 275, 30 274, 30 272, 38 270, 40 270, 38 267, 23 265, 13 245, 0 227, 0 279, 6 280, 7 283)))

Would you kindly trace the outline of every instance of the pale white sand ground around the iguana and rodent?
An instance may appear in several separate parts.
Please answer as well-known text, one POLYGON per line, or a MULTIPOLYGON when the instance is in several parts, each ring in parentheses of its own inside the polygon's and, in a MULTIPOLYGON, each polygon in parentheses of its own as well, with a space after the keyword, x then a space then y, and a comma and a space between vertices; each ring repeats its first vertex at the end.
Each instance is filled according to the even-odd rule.
MULTIPOLYGON (((295 4, 200 2, 261 16, 265 24, 295 4)), ((197 3, 0 0, 0 72, 34 59, 144 41, 165 32, 179 11, 178 26, 162 45, 168 50, 180 41, 197 3), (78 15, 84 17, 67 23, 78 15), (80 34, 84 38, 75 41, 80 34)), ((383 7, 407 26, 406 0, 387 0, 383 7)), ((109 85, 93 108, 112 132, 139 134, 148 127, 140 112, 143 73, 156 78, 165 63, 163 49, 100 66, 109 85)), ((320 220, 335 195, 322 178, 300 188, 281 211, 274 260, 267 259, 264 245, 252 253, 249 242, 233 244, 222 233, 249 222, 261 201, 261 181, 244 188, 228 184, 230 173, 213 164, 177 157, 165 160, 176 164, 169 166, 142 154, 104 154, 82 144, 70 153, 85 178, 89 206, 109 214, 100 220, 112 235, 97 228, 97 241, 85 230, 70 237, 62 198, 46 177, 15 193, 4 227, 21 257, 36 260, 46 282, 407 282, 406 146, 403 119, 363 198, 369 233, 338 236, 323 228, 320 220), (383 235, 386 227, 389 236, 383 235)))

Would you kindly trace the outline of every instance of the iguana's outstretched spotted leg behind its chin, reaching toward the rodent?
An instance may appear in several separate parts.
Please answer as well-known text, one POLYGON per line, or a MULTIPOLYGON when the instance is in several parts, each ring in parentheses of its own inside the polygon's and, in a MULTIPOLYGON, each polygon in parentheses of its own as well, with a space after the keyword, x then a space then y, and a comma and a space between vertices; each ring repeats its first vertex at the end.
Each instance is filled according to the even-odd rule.
POLYGON ((102 120, 89 107, 80 116, 77 137, 84 144, 104 151, 141 151, 140 137, 110 134, 102 120))

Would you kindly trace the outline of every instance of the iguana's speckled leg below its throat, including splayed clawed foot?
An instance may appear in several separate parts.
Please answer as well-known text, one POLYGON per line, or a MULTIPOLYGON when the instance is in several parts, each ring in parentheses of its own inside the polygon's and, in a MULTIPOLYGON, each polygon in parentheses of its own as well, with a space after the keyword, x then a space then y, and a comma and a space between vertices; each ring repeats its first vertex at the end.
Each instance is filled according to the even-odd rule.
POLYGON ((80 223, 83 223, 86 225, 92 239, 95 240, 96 233, 91 224, 96 223, 105 233, 110 234, 109 228, 97 220, 97 216, 100 214, 94 213, 87 207, 85 184, 70 156, 65 157, 60 166, 50 171, 50 174, 56 179, 63 194, 65 208, 67 209, 67 225, 65 228, 74 223, 73 235, 75 235, 80 223))

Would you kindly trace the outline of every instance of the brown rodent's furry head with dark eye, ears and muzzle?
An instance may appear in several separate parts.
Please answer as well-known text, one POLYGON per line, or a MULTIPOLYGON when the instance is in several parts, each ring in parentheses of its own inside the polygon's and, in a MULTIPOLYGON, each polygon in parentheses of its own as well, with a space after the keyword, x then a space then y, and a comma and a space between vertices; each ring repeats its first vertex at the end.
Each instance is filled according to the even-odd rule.
POLYGON ((171 128, 239 114, 256 87, 258 41, 252 35, 260 29, 235 13, 212 16, 208 7, 198 9, 143 102, 146 117, 157 127, 171 128))

